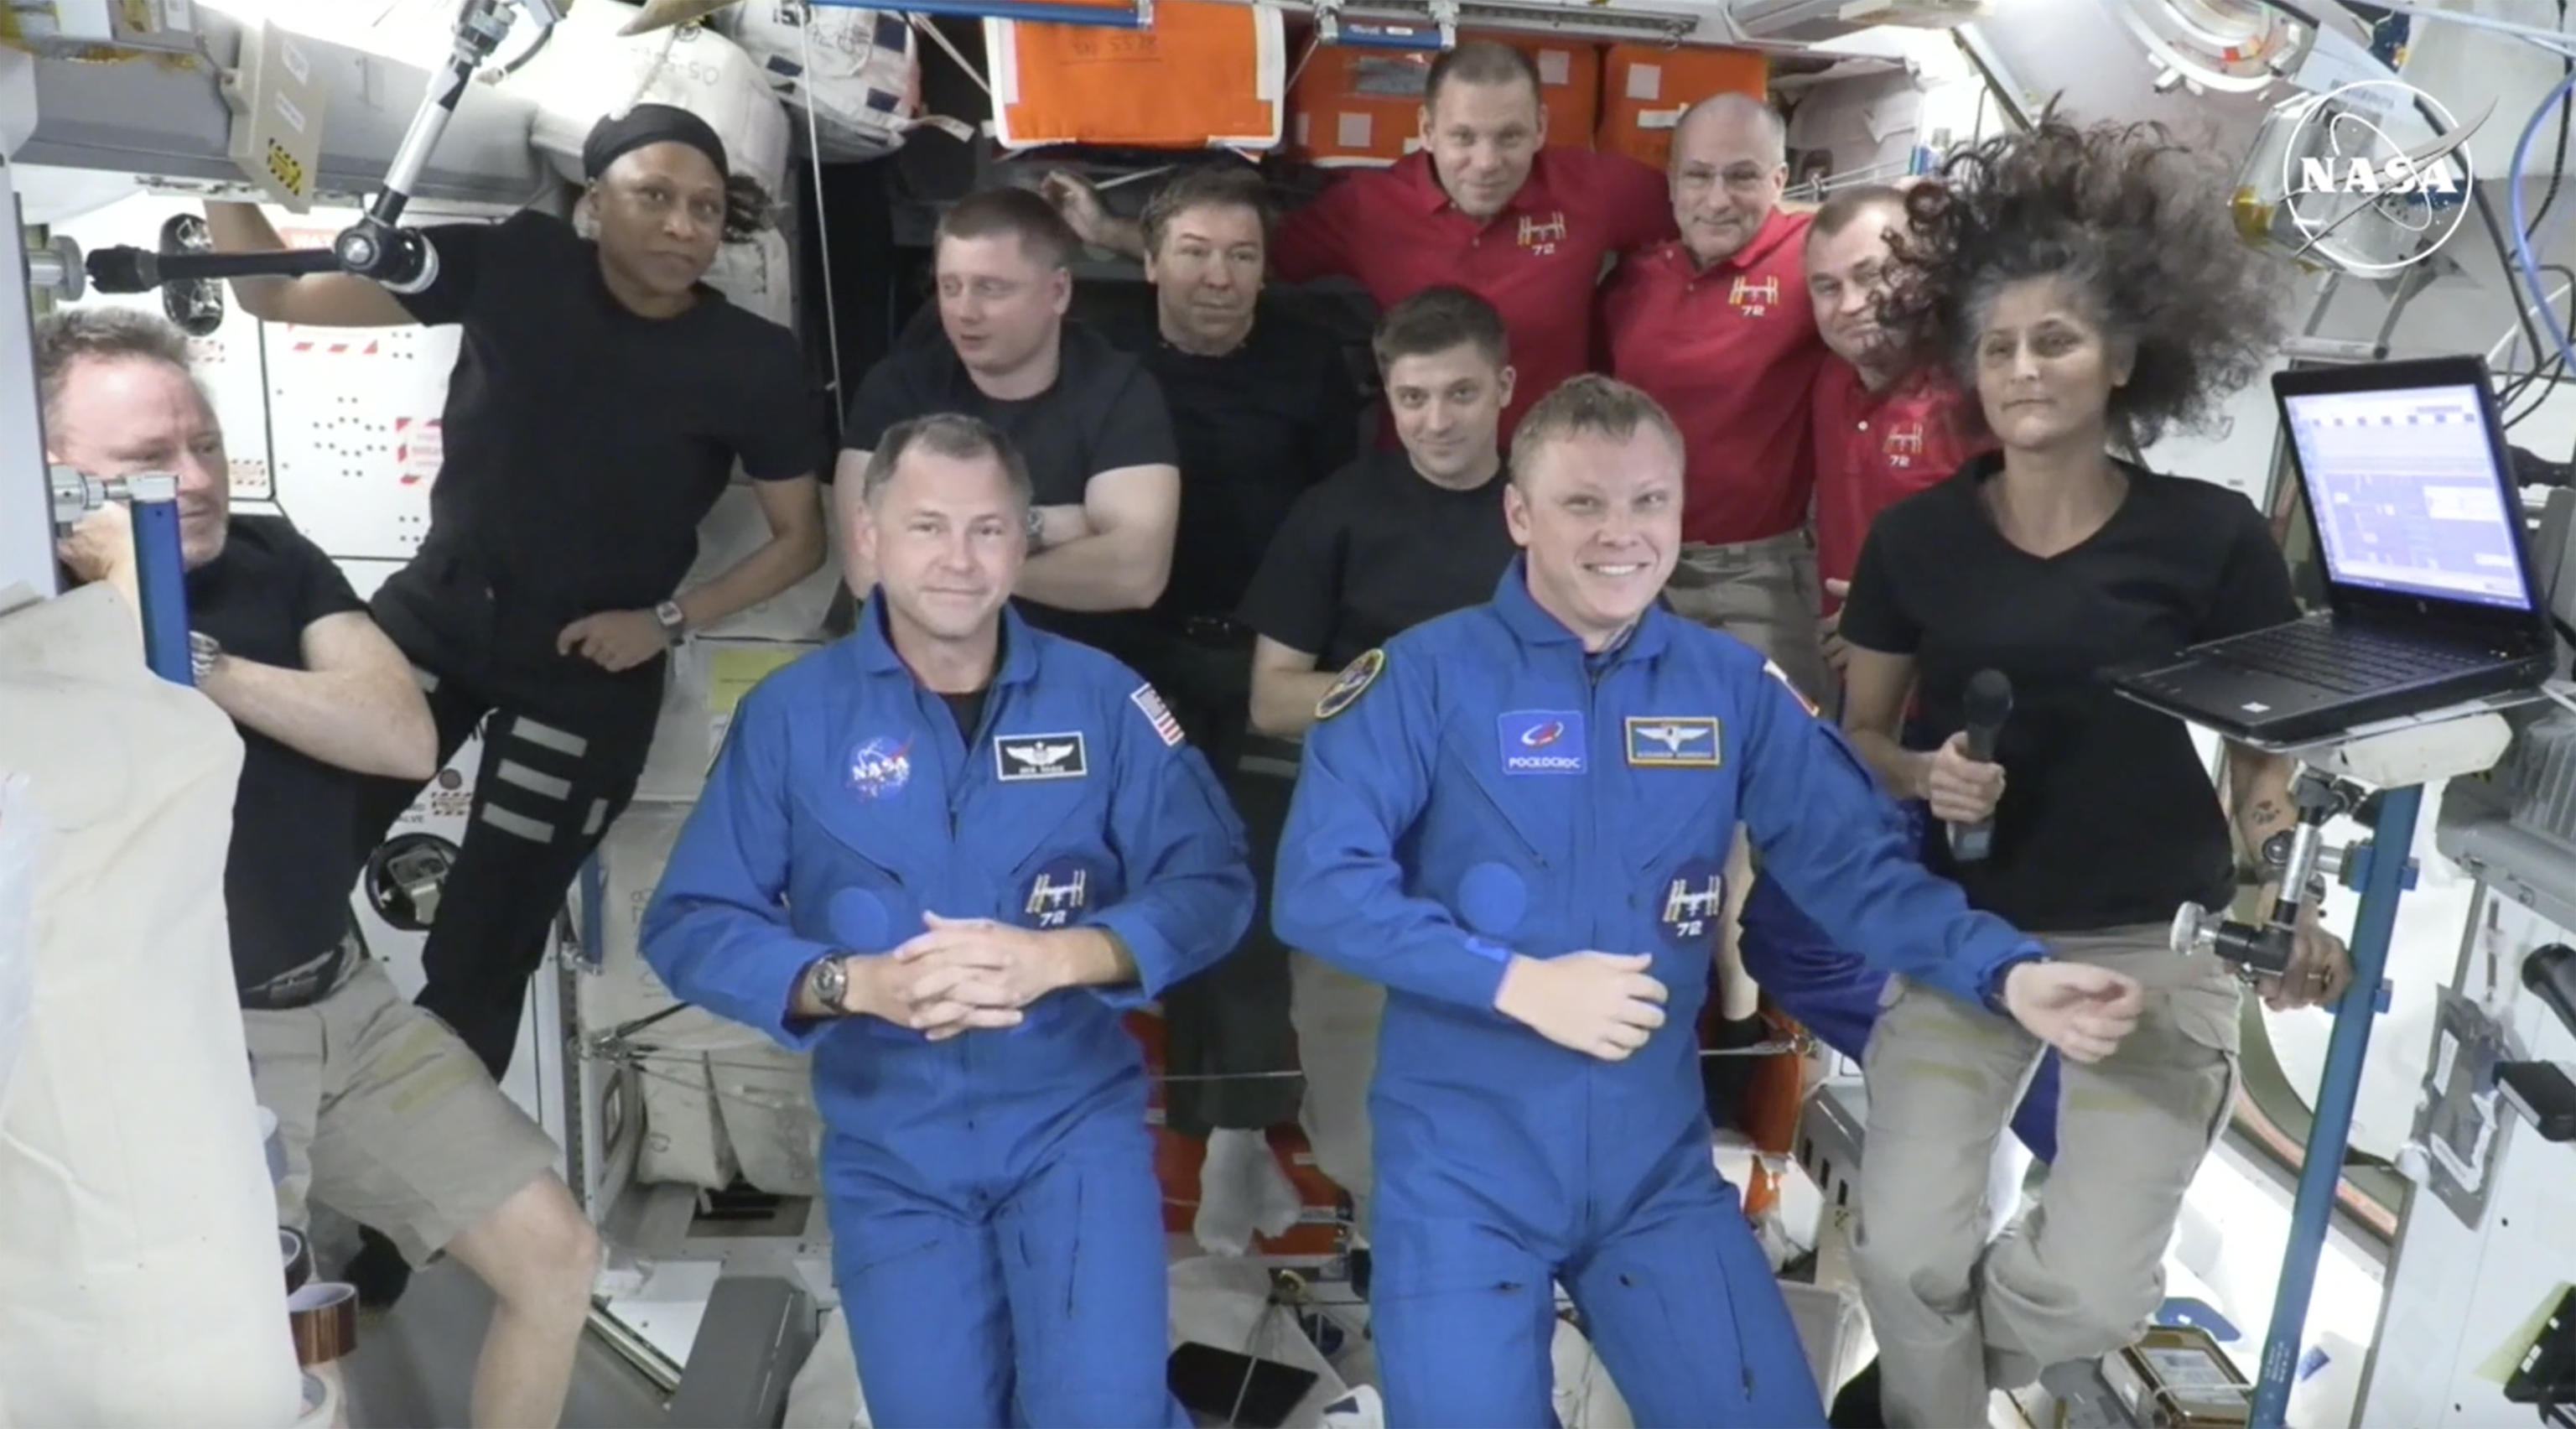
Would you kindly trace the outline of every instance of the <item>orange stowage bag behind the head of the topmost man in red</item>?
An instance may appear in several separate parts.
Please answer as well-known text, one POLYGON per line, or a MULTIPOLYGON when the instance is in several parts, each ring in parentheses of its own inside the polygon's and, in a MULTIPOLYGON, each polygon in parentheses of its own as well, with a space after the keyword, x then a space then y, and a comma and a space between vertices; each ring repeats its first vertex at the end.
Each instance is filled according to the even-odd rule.
MULTIPOLYGON (((1473 36, 1461 36, 1473 39, 1473 36)), ((1600 46, 1571 39, 1481 36, 1538 64, 1551 149, 1589 149, 1600 118, 1600 46)), ((1432 54, 1327 44, 1288 90, 1291 152, 1316 165, 1391 165, 1422 147, 1422 82, 1432 54)))

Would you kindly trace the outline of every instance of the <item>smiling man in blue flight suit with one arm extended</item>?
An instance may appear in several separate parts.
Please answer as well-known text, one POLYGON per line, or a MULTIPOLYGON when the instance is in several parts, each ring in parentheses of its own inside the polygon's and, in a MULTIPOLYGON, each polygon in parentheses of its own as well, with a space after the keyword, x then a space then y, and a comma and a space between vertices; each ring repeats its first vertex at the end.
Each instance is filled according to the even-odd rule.
POLYGON ((1842 948, 2066 1056, 2107 1056, 2141 989, 1971 911, 1775 667, 1656 605, 1682 443, 1651 399, 1582 376, 1538 402, 1504 505, 1522 559, 1345 669, 1280 839, 1280 937, 1388 986, 1388 1426, 1553 1426, 1558 1280, 1636 1424, 1821 1426, 1690 1032, 1736 824, 1842 948))

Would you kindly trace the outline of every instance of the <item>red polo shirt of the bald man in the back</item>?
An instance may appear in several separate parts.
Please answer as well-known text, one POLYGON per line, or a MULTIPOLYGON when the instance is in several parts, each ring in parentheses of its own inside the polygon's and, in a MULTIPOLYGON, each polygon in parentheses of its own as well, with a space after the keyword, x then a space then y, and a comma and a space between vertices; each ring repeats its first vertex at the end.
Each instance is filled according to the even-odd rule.
POLYGON ((1602 294, 1610 373, 1682 427, 1682 541, 1734 546, 1806 525, 1808 397, 1826 355, 1806 296, 1808 221, 1775 211, 1705 273, 1667 242, 1620 265, 1602 294))

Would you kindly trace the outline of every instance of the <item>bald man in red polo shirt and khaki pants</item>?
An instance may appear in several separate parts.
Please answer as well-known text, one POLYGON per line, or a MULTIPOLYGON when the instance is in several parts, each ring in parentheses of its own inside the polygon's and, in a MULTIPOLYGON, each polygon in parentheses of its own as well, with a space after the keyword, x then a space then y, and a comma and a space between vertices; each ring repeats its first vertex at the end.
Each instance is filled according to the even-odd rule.
POLYGON ((1682 559, 1664 595, 1824 698, 1821 590, 1806 510, 1808 422, 1826 348, 1806 291, 1811 214, 1780 209, 1788 126, 1749 95, 1695 103, 1672 134, 1680 239, 1602 296, 1610 371, 1682 425, 1682 559))

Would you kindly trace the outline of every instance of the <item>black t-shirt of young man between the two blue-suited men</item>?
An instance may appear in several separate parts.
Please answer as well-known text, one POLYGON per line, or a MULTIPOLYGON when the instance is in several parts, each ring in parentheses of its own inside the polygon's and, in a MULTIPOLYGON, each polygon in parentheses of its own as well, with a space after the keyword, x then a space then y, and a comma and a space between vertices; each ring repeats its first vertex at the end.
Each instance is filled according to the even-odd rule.
POLYGON ((1494 597, 1517 546, 1504 476, 1435 487, 1401 451, 1376 451, 1298 497, 1244 592, 1242 623, 1340 669, 1394 636, 1494 597))

